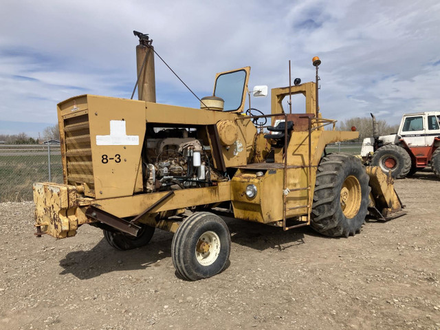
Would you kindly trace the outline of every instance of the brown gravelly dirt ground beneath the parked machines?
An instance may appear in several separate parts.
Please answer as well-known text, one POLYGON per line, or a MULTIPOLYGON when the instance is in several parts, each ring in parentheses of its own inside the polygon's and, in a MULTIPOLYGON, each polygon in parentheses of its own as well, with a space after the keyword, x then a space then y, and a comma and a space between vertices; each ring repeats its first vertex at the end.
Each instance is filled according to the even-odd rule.
POLYGON ((225 218, 230 265, 197 282, 168 232, 128 252, 91 226, 37 239, 31 202, 0 203, 0 329, 440 329, 440 181, 395 186, 408 214, 349 239, 225 218))

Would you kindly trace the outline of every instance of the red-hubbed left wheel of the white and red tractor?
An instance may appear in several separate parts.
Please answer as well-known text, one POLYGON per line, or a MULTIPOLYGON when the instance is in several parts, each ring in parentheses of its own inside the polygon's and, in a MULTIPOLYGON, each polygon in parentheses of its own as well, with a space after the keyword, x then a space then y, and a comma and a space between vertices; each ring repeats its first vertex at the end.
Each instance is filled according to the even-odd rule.
POLYGON ((411 157, 404 148, 386 144, 375 151, 371 165, 379 166, 385 174, 391 170, 393 178, 403 179, 411 169, 411 157))

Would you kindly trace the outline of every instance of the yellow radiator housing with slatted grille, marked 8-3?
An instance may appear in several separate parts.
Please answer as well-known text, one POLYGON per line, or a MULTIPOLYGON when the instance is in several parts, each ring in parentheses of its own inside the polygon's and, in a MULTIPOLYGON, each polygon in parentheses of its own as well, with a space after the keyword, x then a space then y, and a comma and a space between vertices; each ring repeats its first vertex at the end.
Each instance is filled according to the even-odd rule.
POLYGON ((85 195, 96 199, 142 191, 144 104, 91 95, 58 104, 65 184, 83 185, 85 195), (123 122, 126 135, 137 136, 137 145, 98 145, 97 135, 109 135, 111 121, 123 122))

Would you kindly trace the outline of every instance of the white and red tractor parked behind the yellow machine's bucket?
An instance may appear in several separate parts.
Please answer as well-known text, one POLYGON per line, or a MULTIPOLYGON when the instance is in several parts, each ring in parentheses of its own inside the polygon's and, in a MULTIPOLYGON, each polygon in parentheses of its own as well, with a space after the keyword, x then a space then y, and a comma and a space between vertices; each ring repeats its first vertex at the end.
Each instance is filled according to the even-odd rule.
POLYGON ((440 178, 440 111, 408 113, 401 118, 396 134, 379 136, 375 116, 373 137, 362 142, 361 156, 365 163, 391 170, 394 178, 412 175, 431 166, 440 178))

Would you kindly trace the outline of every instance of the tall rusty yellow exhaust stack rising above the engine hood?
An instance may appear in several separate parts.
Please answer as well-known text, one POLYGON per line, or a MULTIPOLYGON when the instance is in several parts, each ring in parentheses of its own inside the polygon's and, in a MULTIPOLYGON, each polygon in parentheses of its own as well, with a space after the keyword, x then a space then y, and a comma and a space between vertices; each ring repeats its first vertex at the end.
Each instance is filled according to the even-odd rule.
POLYGON ((156 82, 154 74, 154 48, 153 40, 148 34, 133 31, 139 37, 139 45, 136 46, 137 62, 137 98, 146 102, 156 102, 156 82))

